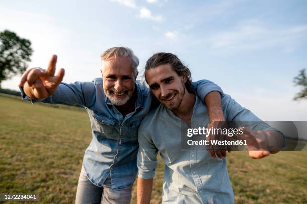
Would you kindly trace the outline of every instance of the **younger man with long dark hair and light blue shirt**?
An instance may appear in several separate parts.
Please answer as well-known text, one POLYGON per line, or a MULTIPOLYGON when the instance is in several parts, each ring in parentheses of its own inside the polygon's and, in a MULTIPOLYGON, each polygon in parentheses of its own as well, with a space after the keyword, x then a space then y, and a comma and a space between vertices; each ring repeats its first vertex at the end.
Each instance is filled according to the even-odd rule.
MULTIPOLYGON (((158 152, 165 163, 163 203, 233 203, 226 158, 211 158, 204 146, 182 150, 183 125, 188 123, 198 129, 209 121, 206 105, 193 92, 189 69, 176 55, 157 53, 148 59, 145 77, 161 104, 142 120, 138 131, 138 203, 150 202, 158 152)), ((276 133, 275 138, 282 140, 280 133, 269 131, 274 129, 229 95, 222 96, 222 105, 226 121, 258 121, 249 127, 276 133)), ((250 151, 250 156, 262 158, 270 154, 267 148, 258 150, 250 151)))

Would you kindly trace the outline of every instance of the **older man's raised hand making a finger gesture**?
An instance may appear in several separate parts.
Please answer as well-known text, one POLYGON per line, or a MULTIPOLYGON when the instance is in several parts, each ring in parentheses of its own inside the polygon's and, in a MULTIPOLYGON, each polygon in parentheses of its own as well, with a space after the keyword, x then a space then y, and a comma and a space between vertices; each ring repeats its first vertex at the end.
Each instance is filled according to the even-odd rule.
POLYGON ((32 99, 46 98, 52 95, 61 81, 65 71, 61 68, 56 75, 57 56, 53 55, 46 70, 42 68, 28 69, 21 77, 19 87, 23 87, 26 95, 32 99))

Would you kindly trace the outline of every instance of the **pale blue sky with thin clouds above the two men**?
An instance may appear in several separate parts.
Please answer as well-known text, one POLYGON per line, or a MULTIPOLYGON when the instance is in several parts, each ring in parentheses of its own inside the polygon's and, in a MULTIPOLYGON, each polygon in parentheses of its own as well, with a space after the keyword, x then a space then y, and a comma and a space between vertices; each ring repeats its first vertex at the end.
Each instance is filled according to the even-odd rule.
MULTIPOLYGON (((293 78, 307 69, 306 0, 2 0, 0 31, 32 42, 29 67, 52 54, 63 82, 101 77, 100 54, 130 47, 140 59, 176 54, 193 81, 218 84, 263 120, 307 120, 293 78)), ((2 82, 18 90, 20 76, 2 82)))

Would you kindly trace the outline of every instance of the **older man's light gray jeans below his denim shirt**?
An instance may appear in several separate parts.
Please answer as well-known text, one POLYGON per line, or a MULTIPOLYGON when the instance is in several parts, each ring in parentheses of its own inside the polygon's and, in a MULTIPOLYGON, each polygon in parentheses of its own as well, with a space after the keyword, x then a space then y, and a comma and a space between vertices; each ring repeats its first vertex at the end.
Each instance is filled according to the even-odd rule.
MULTIPOLYGON (((106 182, 111 183, 110 179, 106 182)), ((106 183, 105 183, 106 184, 106 183)), ((111 187, 102 185, 98 187, 91 183, 86 176, 86 172, 83 168, 80 172, 77 194, 76 194, 76 204, 91 204, 91 203, 130 203, 132 196, 132 185, 122 189, 113 191, 111 187)))

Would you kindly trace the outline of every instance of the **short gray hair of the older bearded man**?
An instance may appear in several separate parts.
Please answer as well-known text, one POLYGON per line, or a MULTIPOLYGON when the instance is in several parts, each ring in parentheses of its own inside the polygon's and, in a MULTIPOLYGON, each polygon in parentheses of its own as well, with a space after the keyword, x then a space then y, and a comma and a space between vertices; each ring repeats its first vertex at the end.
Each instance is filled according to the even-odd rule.
POLYGON ((132 59, 132 69, 133 69, 133 77, 136 76, 137 73, 137 67, 139 64, 139 60, 137 56, 134 55, 132 49, 128 47, 112 47, 109 48, 108 50, 104 51, 101 55, 101 61, 107 61, 111 57, 130 57, 132 59))

